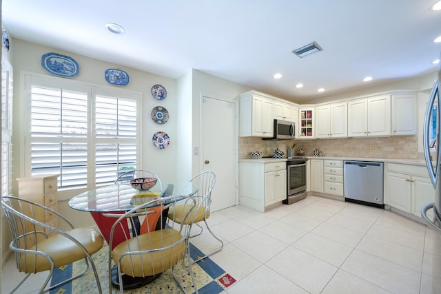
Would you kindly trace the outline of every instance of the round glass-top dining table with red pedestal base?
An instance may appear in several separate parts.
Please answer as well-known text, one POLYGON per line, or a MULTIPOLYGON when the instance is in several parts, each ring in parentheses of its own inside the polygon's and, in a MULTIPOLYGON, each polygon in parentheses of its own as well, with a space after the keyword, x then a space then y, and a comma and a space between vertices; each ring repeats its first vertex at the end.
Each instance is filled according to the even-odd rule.
MULTIPOLYGON (((112 229, 114 222, 126 211, 130 211, 134 207, 154 200, 160 196, 192 196, 198 191, 198 186, 193 182, 178 180, 162 182, 166 183, 162 189, 160 185, 155 185, 147 191, 136 190, 127 183, 99 187, 74 196, 69 200, 69 207, 78 211, 89 212, 108 244, 110 240, 110 230, 112 229)), ((163 205, 166 206, 167 203, 163 202, 163 205)), ((166 213, 166 211, 164 210, 163 213, 166 213)), ((165 226, 165 220, 166 217, 163 218, 164 222, 162 224, 157 225, 165 226)), ((132 227, 137 230, 137 233, 139 233, 141 224, 132 223, 132 227)), ((130 232, 128 224, 123 230, 126 233, 130 232)), ((116 235, 116 233, 114 234, 114 241, 112 243, 113 248, 119 244, 119 242, 125 240, 122 234, 123 232, 119 234, 120 237, 116 235)), ((115 287, 119 287, 117 278, 117 273, 113 273, 112 270, 112 284, 115 287)), ((156 277, 125 277, 123 284, 124 288, 126 288, 126 286, 127 288, 137 288, 152 282, 155 279, 156 277)))

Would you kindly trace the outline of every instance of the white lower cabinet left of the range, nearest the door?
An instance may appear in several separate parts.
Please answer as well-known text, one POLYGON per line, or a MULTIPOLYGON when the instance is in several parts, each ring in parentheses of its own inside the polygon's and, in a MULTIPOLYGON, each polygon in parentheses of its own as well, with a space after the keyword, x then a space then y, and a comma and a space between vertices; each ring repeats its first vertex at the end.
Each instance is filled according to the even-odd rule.
POLYGON ((239 162, 240 205, 265 212, 265 207, 287 198, 286 160, 239 162))

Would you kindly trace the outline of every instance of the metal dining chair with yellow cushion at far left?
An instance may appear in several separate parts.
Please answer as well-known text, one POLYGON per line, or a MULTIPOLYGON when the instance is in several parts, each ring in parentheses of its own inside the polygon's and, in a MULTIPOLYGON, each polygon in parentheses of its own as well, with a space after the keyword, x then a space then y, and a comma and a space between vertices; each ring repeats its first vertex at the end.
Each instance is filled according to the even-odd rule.
POLYGON ((92 266, 98 292, 101 293, 98 273, 91 256, 103 246, 103 237, 98 231, 85 227, 74 228, 72 223, 57 211, 23 198, 2 196, 1 207, 5 211, 12 234, 9 248, 15 253, 17 269, 25 273, 23 280, 11 293, 17 291, 31 273, 49 271, 39 291, 46 293, 83 275, 89 275, 89 264, 92 266), (55 225, 36 220, 43 216, 53 216, 51 224, 55 225), (60 227, 68 227, 70 230, 61 231, 60 227), (85 270, 82 273, 47 286, 54 269, 78 260, 85 261, 85 270))

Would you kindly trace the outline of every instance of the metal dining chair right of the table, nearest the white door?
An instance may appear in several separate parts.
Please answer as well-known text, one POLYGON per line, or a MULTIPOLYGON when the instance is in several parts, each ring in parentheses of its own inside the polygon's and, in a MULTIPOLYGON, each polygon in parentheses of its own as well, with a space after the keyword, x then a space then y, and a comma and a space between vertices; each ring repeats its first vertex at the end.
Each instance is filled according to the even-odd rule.
MULTIPOLYGON (((221 251, 223 249, 223 241, 213 233, 212 229, 210 229, 209 225, 207 224, 210 206, 212 204, 212 191, 214 184, 216 183, 216 174, 214 174, 213 171, 203 171, 189 180, 189 183, 193 183, 198 186, 197 193, 193 195, 193 197, 196 199, 196 209, 194 209, 192 212, 191 217, 187 218, 187 221, 185 221, 185 218, 181 216, 181 213, 185 210, 183 210, 182 207, 179 207, 179 205, 176 205, 176 207, 170 208, 168 211, 168 218, 174 222, 178 222, 179 224, 196 224, 201 230, 198 231, 198 233, 191 235, 190 238, 201 235, 203 232, 203 227, 198 224, 198 222, 203 221, 205 222, 205 227, 207 227, 209 233, 212 234, 212 236, 218 240, 218 242, 220 242, 219 247, 192 262, 195 263, 221 251)), ((183 189, 185 189, 185 187, 183 189)))

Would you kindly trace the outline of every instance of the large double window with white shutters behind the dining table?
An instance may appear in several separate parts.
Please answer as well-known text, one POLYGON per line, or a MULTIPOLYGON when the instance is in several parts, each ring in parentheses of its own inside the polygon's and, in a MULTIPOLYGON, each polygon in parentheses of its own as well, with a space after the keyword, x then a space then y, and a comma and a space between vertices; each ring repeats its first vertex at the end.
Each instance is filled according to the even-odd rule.
POLYGON ((59 189, 75 189, 108 185, 121 167, 136 167, 139 94, 29 78, 32 176, 60 174, 59 189))

